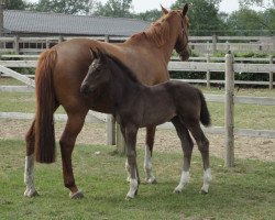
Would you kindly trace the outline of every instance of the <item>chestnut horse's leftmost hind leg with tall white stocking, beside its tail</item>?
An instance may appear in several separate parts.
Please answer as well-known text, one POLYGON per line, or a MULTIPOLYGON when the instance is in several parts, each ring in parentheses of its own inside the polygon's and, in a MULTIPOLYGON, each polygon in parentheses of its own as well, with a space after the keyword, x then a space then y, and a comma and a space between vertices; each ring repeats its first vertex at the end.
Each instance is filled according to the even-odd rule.
POLYGON ((37 195, 34 186, 34 142, 35 142, 35 133, 34 133, 34 123, 33 120, 30 130, 25 135, 26 142, 26 156, 25 156, 25 170, 24 170, 24 183, 25 183, 25 197, 33 197, 37 195))

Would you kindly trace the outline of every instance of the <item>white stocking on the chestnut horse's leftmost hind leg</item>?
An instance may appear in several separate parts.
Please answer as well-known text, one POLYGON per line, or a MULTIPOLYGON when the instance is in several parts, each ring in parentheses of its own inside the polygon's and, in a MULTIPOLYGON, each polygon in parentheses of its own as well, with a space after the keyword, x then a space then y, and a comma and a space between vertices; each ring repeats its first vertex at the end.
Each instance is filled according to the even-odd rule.
POLYGON ((24 196, 33 197, 37 193, 34 186, 34 155, 25 157, 25 173, 24 173, 25 193, 24 196))

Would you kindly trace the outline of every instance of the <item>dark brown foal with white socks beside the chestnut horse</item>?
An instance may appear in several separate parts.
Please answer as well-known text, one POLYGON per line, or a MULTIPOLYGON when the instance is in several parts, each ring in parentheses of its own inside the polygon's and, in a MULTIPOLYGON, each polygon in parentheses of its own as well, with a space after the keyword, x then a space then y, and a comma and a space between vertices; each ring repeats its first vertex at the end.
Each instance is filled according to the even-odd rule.
POLYGON ((211 180, 209 142, 200 122, 210 125, 210 114, 201 91, 188 84, 167 81, 157 86, 144 86, 119 61, 91 51, 96 57, 81 84, 84 95, 105 88, 112 100, 112 114, 121 125, 127 143, 130 190, 127 198, 134 198, 140 177, 136 166, 136 133, 139 128, 154 127, 170 121, 177 131, 184 151, 184 166, 175 193, 180 193, 189 180, 194 143, 197 142, 204 162, 204 185, 201 193, 208 193, 211 180))

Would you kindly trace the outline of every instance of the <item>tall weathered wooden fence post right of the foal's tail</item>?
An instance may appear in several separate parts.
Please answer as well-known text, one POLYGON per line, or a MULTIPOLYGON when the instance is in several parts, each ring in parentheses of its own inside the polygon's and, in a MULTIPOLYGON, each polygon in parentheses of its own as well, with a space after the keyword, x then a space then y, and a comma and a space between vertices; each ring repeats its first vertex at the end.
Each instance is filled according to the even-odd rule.
POLYGON ((234 165, 234 70, 233 56, 226 55, 226 166, 234 165))

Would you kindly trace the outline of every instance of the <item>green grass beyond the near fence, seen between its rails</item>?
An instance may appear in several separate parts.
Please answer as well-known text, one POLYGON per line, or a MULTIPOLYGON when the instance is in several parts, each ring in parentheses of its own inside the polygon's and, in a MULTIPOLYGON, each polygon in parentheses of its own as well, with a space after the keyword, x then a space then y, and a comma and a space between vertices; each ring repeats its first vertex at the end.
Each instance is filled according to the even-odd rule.
MULTIPOLYGON (((12 79, 9 79, 12 80, 12 79)), ((1 85, 2 79, 0 79, 1 85)), ((2 81, 3 84, 3 81, 2 81)), ((8 84, 6 81, 6 84, 8 84)), ((224 89, 199 87, 205 94, 224 95, 224 89)), ((235 96, 274 97, 275 89, 237 89, 235 96)), ((1 92, 0 112, 35 112, 34 92, 1 92)), ((208 102, 212 125, 224 125, 224 105, 208 102)), ((64 113, 63 108, 57 110, 64 113)), ((235 128, 275 130, 275 106, 235 105, 235 128), (256 123, 255 123, 256 121, 256 123)))

